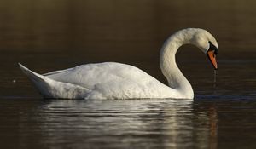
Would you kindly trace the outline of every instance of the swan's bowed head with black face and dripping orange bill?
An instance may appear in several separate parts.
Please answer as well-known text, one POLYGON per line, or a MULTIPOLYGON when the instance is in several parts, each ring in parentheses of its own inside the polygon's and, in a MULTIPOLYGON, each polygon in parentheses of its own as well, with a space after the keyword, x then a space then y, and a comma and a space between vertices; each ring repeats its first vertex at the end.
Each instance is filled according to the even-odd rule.
POLYGON ((216 55, 218 54, 218 43, 216 39, 203 29, 196 29, 194 36, 191 38, 194 43, 202 52, 207 54, 208 59, 211 61, 214 69, 218 68, 216 55))

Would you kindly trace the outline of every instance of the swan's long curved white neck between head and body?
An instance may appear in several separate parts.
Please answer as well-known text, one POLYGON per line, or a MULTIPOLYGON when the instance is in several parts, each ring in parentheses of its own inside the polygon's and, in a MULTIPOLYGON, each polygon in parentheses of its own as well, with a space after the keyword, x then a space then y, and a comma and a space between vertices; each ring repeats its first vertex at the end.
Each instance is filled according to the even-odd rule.
POLYGON ((178 69, 175 60, 177 49, 183 44, 191 43, 191 38, 192 36, 189 36, 188 32, 176 32, 169 37, 160 50, 160 68, 172 89, 177 90, 184 97, 193 98, 193 89, 178 69))

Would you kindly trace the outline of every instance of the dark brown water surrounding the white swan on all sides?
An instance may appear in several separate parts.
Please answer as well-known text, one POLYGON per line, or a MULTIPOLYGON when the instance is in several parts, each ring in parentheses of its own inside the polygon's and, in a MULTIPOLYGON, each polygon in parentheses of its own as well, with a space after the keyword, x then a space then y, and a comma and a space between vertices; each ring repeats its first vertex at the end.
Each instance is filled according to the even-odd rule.
POLYGON ((256 148, 255 2, 198 3, 205 7, 194 1, 1 1, 1 148, 256 148), (219 44, 218 78, 200 50, 177 52, 194 100, 44 100, 17 65, 44 73, 118 61, 166 83, 160 46, 172 32, 194 26, 219 44))

